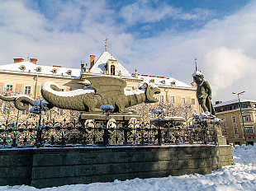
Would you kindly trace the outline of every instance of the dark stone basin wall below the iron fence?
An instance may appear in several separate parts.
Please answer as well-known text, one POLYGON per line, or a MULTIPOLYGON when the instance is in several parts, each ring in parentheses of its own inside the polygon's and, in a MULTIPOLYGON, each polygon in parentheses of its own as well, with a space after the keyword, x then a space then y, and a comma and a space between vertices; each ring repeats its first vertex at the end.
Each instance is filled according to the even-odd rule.
POLYGON ((229 146, 70 147, 2 149, 0 186, 65 184, 210 174, 232 164, 229 146))

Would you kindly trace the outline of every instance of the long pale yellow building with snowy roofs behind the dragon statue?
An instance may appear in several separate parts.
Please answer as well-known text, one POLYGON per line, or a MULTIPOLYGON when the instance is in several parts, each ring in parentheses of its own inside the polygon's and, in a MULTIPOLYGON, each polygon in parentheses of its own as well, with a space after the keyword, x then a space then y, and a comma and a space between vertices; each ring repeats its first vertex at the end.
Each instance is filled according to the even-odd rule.
MULTIPOLYGON (((90 56, 90 66, 81 63, 78 68, 63 68, 59 65, 45 66, 37 64, 36 58, 24 61, 23 58, 14 58, 14 63, 0 65, 0 89, 3 93, 21 93, 40 99, 40 85, 43 82, 55 82, 62 91, 71 91, 83 88, 88 82, 85 77, 97 75, 111 75, 126 80, 126 90, 136 90, 140 83, 150 83, 161 90, 156 98, 160 102, 173 103, 173 105, 192 105, 195 112, 199 112, 196 97, 196 88, 180 82, 173 77, 159 77, 154 75, 140 75, 136 70, 130 73, 105 49, 95 61, 90 56), (79 69, 78 69, 79 68, 79 69)), ((23 112, 22 114, 27 114, 23 112)), ((61 115, 62 112, 59 112, 61 115)))

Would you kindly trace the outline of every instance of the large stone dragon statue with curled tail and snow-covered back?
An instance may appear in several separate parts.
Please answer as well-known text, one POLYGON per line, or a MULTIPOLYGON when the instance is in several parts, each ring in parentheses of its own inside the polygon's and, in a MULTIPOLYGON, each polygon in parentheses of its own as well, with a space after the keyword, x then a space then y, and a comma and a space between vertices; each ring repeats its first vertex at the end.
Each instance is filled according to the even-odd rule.
POLYGON ((41 95, 48 102, 38 102, 26 95, 3 96, 0 99, 14 101, 17 109, 28 109, 28 105, 43 106, 45 109, 58 107, 78 111, 94 111, 101 105, 113 105, 114 112, 125 112, 127 107, 140 103, 154 103, 154 98, 160 90, 156 86, 144 83, 139 90, 126 91, 126 81, 118 77, 86 77, 90 86, 74 91, 60 91, 54 82, 44 82, 41 85, 41 95))

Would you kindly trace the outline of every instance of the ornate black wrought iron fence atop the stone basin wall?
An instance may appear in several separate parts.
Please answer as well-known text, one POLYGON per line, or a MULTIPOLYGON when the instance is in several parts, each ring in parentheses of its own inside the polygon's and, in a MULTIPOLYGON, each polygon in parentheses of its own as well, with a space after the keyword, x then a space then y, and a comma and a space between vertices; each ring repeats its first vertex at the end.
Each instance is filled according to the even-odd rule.
POLYGON ((148 146, 217 144, 216 129, 207 123, 153 125, 137 121, 89 123, 21 123, 0 125, 0 148, 148 146))

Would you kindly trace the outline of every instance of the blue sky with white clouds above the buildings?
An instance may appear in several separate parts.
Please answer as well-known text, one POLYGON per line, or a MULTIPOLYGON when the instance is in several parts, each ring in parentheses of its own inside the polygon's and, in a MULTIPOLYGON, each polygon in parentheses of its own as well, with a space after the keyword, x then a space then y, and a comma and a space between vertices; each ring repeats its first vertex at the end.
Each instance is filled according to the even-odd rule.
POLYGON ((213 100, 256 100, 256 1, 0 0, 0 64, 38 58, 79 68, 107 49, 130 72, 192 82, 194 58, 213 100))

